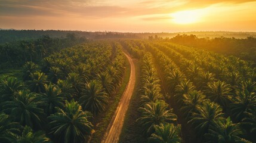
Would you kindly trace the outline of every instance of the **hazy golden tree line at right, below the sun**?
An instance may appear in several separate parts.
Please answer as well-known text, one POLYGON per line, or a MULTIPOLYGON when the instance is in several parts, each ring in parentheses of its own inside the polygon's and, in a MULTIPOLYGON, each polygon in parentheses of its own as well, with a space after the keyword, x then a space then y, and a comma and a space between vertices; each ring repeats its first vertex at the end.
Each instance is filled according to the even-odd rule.
POLYGON ((248 36, 246 39, 225 38, 198 38, 196 35, 177 35, 170 41, 181 45, 194 46, 223 54, 235 55, 243 60, 256 62, 256 38, 248 36))

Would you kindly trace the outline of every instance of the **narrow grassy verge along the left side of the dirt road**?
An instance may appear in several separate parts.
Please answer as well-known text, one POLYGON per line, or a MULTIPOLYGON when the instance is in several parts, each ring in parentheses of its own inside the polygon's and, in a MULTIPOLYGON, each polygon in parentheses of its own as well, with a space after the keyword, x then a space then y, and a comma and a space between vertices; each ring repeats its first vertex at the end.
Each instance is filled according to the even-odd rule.
POLYGON ((91 141, 92 143, 101 142, 101 139, 104 136, 104 133, 111 122, 112 117, 115 114, 116 108, 118 107, 119 101, 128 85, 129 77, 131 73, 131 66, 129 65, 129 61, 125 58, 125 73, 122 79, 122 85, 116 91, 116 95, 110 98, 109 105, 106 108, 106 111, 99 116, 95 117, 94 119, 94 130, 95 132, 92 133, 91 141))

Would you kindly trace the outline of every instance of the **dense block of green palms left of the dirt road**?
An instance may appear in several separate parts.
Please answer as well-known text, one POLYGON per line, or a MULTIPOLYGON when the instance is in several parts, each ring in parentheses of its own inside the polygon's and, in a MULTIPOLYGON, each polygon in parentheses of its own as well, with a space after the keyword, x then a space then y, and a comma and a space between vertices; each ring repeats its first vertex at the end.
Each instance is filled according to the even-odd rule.
POLYGON ((0 82, 0 125, 6 125, 0 140, 84 142, 92 117, 104 111, 121 84, 124 63, 121 46, 106 42, 63 49, 40 65, 27 62, 23 81, 0 82))

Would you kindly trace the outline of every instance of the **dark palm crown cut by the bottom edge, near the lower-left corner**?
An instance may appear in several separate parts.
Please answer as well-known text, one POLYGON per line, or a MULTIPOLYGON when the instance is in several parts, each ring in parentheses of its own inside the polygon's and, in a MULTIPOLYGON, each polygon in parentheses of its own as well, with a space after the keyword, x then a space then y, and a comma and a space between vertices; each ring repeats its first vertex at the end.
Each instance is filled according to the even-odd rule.
POLYGON ((21 135, 16 136, 17 143, 45 143, 45 142, 51 142, 50 138, 47 138, 45 136, 45 133, 42 132, 42 130, 39 130, 37 132, 33 132, 33 130, 29 126, 25 126, 21 135))

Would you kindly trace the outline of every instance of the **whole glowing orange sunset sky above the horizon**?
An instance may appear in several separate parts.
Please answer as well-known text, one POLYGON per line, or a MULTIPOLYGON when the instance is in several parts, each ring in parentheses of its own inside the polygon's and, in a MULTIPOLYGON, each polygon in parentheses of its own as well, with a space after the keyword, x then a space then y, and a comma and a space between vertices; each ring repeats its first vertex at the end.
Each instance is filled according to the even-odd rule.
POLYGON ((0 28, 256 32, 256 1, 0 0, 0 28))

